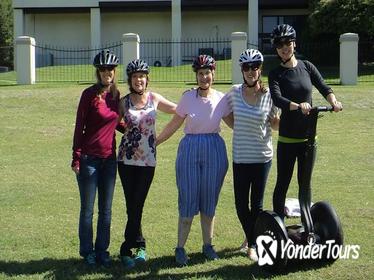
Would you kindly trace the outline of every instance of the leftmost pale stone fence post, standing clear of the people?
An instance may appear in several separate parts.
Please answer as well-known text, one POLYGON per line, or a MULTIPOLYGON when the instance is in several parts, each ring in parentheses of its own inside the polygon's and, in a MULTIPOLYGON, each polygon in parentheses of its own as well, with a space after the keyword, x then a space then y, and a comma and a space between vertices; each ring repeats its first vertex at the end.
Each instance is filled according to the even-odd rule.
POLYGON ((35 84, 35 39, 28 36, 16 38, 17 84, 35 84))

